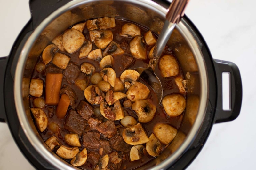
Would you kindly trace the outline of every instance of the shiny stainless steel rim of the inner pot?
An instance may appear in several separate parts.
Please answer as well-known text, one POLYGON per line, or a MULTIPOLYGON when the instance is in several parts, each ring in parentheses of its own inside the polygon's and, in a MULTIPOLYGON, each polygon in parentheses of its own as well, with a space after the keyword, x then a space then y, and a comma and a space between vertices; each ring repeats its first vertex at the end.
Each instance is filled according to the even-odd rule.
MULTIPOLYGON (((64 6, 60 7, 56 11, 54 11, 52 14, 50 14, 47 18, 44 19, 44 21, 34 30, 34 32, 31 34, 31 36, 28 38, 28 41, 25 43, 21 53, 20 57, 17 63, 16 71, 15 71, 15 79, 14 79, 14 99, 15 99, 15 107, 17 111, 17 115, 20 121, 20 125, 27 136, 28 140, 32 144, 32 146, 36 149, 36 151, 49 163, 51 163, 56 168, 65 169, 65 170, 71 170, 75 167, 63 163, 60 159, 58 159, 56 156, 54 156, 49 150, 42 144, 42 142, 38 139, 38 137, 34 134, 29 122, 28 118, 25 114, 25 109, 23 106, 23 100, 22 100, 22 77, 23 77, 23 70, 25 67, 25 62, 28 58, 28 52, 31 50, 34 41, 36 38, 40 35, 40 33, 44 30, 44 28, 50 24, 55 18, 60 16, 62 13, 71 10, 79 5, 87 4, 96 2, 99 0, 73 0, 64 6)), ((105 1, 105 0, 103 0, 105 1)), ((124 2, 130 2, 133 4, 138 4, 141 6, 144 6, 146 8, 149 8, 151 10, 156 11, 161 16, 165 16, 167 9, 162 7, 161 5, 157 4, 153 1, 148 0, 117 0, 117 1, 124 1, 124 2)), ((189 32, 188 28, 180 22, 176 28, 180 31, 182 36, 186 39, 188 42, 189 47, 191 48, 195 60, 198 64, 198 70, 199 70, 199 76, 201 80, 201 96, 200 96, 200 105, 198 108, 198 114, 195 120, 195 123, 186 137, 183 144, 180 146, 180 148, 172 154, 172 156, 166 158, 164 161, 162 161, 160 164, 150 168, 151 170, 157 170, 157 169, 166 169, 170 167, 179 157, 187 151, 189 146, 193 143, 194 139, 197 136, 197 133, 202 125, 202 122, 204 120, 204 116, 206 113, 207 103, 208 103, 208 76, 206 71, 206 65, 204 62, 203 55, 198 47, 198 44, 196 43, 196 40, 192 36, 192 34, 189 32)))

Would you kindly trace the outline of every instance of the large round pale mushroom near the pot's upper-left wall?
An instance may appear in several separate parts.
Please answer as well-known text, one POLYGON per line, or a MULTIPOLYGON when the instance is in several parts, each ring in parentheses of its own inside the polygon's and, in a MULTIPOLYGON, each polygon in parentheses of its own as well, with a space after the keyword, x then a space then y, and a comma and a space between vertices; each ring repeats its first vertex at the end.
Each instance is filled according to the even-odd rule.
POLYGON ((78 50, 84 43, 84 35, 76 29, 69 29, 63 34, 62 43, 68 53, 78 50))

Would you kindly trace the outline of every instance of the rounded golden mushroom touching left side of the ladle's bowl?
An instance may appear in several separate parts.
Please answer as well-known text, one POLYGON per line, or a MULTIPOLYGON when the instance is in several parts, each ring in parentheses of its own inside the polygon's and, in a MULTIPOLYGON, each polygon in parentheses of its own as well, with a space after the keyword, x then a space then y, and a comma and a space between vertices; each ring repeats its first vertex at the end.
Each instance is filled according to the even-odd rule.
POLYGON ((132 86, 126 92, 127 99, 131 100, 132 102, 146 99, 149 93, 150 90, 148 87, 137 81, 133 81, 132 86))

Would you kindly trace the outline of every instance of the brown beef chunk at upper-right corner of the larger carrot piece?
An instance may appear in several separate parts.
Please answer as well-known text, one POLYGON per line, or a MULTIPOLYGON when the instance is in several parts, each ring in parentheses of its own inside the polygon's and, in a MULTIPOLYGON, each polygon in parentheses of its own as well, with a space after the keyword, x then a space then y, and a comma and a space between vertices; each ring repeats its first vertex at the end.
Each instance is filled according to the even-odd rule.
POLYGON ((66 68, 66 70, 64 70, 63 74, 69 83, 75 83, 75 80, 79 76, 79 73, 79 67, 76 64, 69 62, 68 67, 66 68))

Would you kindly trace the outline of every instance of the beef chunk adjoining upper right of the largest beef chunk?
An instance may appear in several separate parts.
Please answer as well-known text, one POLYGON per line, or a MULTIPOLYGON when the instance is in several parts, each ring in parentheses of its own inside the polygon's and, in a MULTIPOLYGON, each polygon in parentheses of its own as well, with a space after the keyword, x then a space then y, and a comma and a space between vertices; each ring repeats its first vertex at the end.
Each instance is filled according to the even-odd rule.
POLYGON ((84 119, 88 120, 94 113, 94 107, 84 100, 81 100, 79 105, 76 107, 77 113, 84 119))

